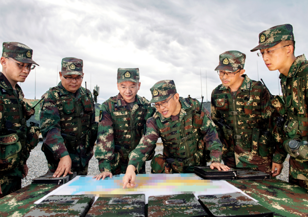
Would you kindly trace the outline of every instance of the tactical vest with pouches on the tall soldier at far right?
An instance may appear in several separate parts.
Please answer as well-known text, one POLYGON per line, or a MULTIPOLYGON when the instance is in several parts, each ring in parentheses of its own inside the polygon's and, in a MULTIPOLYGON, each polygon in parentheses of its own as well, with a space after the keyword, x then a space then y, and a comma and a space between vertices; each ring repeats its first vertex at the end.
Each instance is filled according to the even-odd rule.
MULTIPOLYGON (((283 100, 285 102, 285 111, 287 120, 283 126, 288 138, 298 138, 300 140, 308 141, 308 108, 306 99, 306 75, 307 75, 308 62, 303 62, 299 67, 294 67, 292 73, 296 73, 294 77, 287 77, 286 85, 281 82, 283 100)), ((292 74, 291 73, 291 74, 292 74)), ((288 139, 285 138, 285 139, 288 139)), ((285 146, 288 145, 286 141, 285 146)), ((286 151, 296 158, 297 161, 303 162, 308 159, 303 159, 308 152, 308 147, 303 146, 304 149, 300 155, 294 155, 290 152, 288 147, 286 151)))

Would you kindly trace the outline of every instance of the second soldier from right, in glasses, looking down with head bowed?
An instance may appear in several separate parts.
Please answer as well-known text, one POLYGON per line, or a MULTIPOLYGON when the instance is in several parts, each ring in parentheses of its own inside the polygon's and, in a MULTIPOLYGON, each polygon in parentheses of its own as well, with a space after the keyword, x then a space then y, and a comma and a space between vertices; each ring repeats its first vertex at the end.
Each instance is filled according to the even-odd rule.
POLYGON ((222 84, 212 92, 211 117, 223 144, 222 160, 232 168, 254 168, 267 174, 277 168, 273 174, 277 176, 283 161, 279 149, 273 158, 276 143, 271 136, 270 95, 260 81, 244 74, 245 58, 239 51, 226 51, 219 55, 215 69, 222 84))

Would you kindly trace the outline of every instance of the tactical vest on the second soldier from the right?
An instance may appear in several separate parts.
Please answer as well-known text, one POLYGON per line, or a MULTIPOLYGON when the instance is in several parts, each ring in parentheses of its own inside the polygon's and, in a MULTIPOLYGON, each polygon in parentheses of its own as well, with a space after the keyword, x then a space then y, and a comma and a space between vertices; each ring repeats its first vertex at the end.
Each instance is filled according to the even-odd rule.
POLYGON ((231 150, 234 148, 237 153, 243 150, 253 151, 254 154, 258 151, 259 155, 268 156, 274 152, 274 145, 267 151, 259 149, 260 140, 264 142, 264 146, 270 144, 270 132, 266 131, 261 114, 263 85, 260 85, 260 81, 252 81, 247 85, 250 87, 242 89, 234 99, 229 89, 214 93, 215 109, 232 129, 225 133, 231 150), (237 145, 243 150, 238 150, 237 145))

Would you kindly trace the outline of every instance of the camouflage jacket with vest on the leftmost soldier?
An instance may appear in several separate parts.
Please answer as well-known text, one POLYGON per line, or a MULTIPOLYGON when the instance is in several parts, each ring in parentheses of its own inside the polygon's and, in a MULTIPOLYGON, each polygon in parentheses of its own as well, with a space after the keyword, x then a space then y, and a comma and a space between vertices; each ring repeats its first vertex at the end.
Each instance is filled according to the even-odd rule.
POLYGON ((26 120, 34 115, 35 111, 23 101, 24 94, 20 86, 16 84, 15 88, 16 92, 4 74, 0 73, 0 137, 2 137, 0 141, 0 176, 22 178, 23 164, 26 164, 30 151, 37 145, 37 143, 27 144, 26 140, 29 131, 26 120), (11 127, 9 127, 9 123, 12 124, 11 127))

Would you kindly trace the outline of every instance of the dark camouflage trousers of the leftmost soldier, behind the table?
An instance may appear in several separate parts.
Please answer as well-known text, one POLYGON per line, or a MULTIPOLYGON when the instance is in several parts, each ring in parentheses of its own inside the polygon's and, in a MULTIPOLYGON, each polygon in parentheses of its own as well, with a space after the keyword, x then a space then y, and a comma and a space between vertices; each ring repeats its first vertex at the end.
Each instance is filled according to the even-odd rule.
POLYGON ((0 198, 21 189, 21 178, 18 176, 0 176, 1 191, 0 198))

